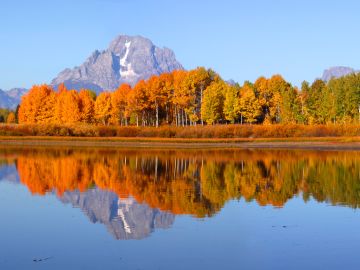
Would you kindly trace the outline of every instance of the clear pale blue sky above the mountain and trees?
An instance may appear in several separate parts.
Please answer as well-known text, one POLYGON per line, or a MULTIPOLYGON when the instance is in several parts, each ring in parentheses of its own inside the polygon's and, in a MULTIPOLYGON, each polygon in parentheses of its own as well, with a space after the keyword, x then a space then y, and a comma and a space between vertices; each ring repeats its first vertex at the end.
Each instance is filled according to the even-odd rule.
POLYGON ((119 34, 174 50, 224 79, 294 85, 360 65, 360 1, 0 0, 0 88, 48 83, 119 34))

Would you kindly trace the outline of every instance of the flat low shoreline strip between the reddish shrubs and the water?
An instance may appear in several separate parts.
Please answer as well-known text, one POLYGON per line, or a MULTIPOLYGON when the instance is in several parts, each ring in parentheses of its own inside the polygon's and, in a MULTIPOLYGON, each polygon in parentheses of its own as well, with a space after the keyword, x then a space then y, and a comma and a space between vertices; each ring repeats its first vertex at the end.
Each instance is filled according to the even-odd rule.
POLYGON ((164 149, 303 149, 360 151, 360 137, 146 138, 2 136, 0 147, 96 147, 164 149))

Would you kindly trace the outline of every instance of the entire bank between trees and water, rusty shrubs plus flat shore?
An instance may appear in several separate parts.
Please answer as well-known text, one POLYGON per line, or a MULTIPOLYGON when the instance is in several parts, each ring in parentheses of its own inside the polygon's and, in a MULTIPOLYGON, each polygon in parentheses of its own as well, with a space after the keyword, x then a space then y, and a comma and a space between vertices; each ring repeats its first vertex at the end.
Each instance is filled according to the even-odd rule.
POLYGON ((115 127, 2 125, 2 147, 277 148, 360 150, 360 126, 115 127))

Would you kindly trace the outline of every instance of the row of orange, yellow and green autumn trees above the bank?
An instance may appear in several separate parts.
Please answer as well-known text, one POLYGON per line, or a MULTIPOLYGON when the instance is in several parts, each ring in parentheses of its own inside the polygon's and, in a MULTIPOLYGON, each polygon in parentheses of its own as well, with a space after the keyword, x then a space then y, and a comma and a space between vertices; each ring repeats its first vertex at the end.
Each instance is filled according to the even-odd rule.
MULTIPOLYGON (((13 117, 13 116, 12 116, 13 117)), ((360 74, 328 83, 303 82, 301 89, 280 75, 229 84, 211 69, 176 70, 122 84, 98 96, 89 90, 54 90, 35 85, 22 98, 19 123, 91 123, 136 126, 199 124, 327 124, 360 121, 360 74)))

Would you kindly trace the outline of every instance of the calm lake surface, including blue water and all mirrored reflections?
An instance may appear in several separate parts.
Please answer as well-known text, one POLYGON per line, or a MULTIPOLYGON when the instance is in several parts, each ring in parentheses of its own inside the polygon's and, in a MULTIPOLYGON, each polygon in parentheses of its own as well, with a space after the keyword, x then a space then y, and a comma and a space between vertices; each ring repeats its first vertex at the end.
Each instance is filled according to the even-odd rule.
POLYGON ((360 152, 0 149, 0 269, 359 269, 360 152))

